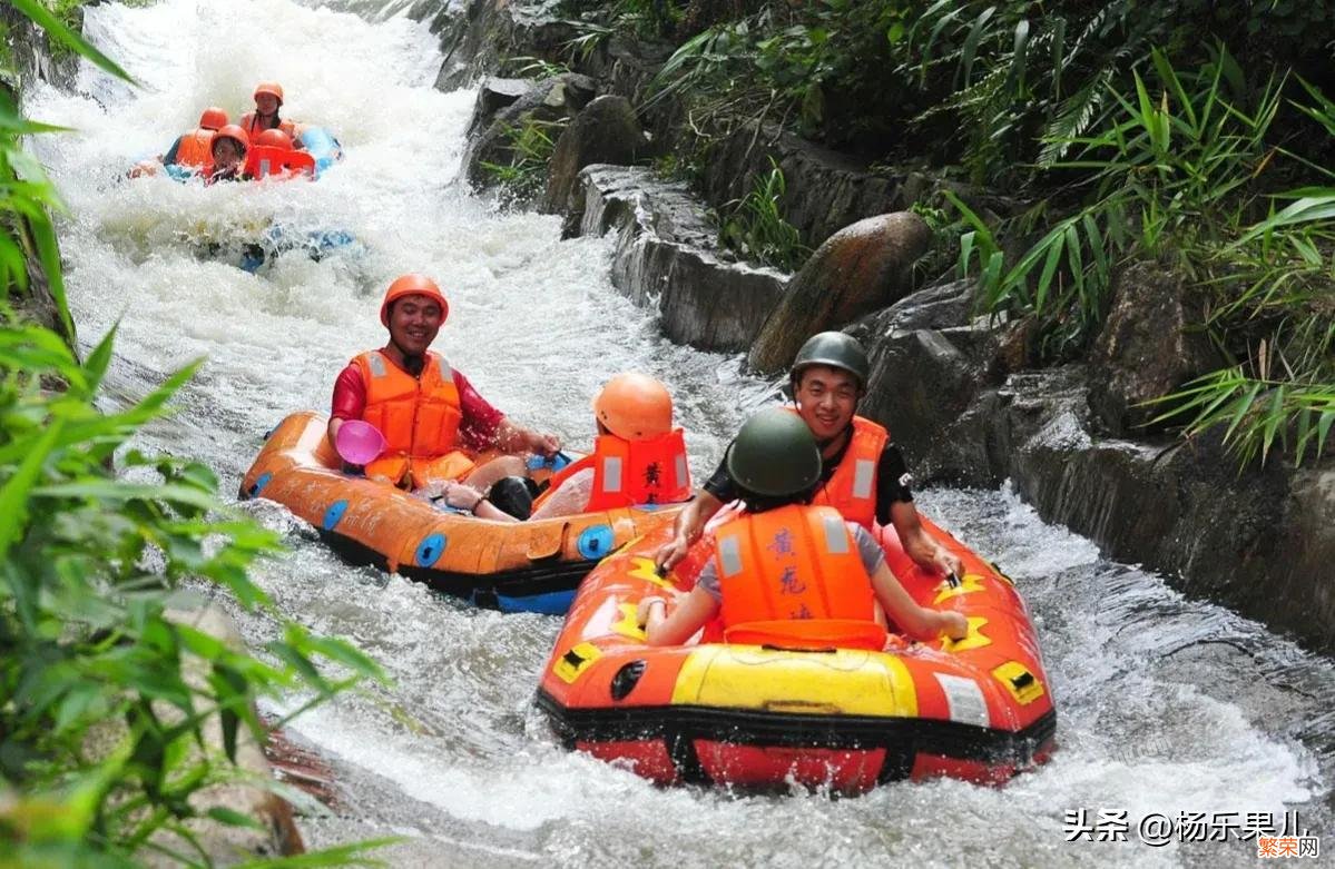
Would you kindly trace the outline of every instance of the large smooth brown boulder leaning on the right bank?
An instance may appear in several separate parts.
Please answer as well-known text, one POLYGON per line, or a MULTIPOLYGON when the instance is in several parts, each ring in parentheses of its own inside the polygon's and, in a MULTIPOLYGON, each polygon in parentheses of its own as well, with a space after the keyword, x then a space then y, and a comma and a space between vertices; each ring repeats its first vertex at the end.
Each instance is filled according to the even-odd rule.
POLYGON ((810 335, 904 298, 913 288, 913 262, 930 240, 922 219, 908 211, 844 227, 789 282, 746 360, 757 371, 777 371, 810 335))

